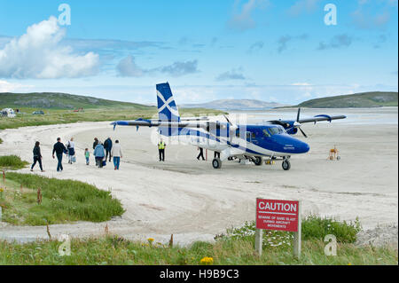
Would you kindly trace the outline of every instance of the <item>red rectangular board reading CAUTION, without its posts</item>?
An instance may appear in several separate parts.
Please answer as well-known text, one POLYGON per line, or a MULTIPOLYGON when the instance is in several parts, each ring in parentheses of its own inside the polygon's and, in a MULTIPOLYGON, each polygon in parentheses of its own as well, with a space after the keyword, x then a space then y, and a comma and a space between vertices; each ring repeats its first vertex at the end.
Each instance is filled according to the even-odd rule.
POLYGON ((256 228, 298 232, 298 200, 256 199, 256 228))

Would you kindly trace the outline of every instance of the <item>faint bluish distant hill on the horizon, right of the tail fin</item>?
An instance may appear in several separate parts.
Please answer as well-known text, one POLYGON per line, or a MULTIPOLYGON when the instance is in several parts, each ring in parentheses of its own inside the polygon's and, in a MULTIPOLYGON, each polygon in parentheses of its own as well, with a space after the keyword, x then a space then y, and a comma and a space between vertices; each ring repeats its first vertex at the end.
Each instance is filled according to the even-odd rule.
POLYGON ((202 104, 185 104, 184 108, 207 108, 219 110, 262 110, 283 106, 275 102, 255 99, 219 99, 202 104))

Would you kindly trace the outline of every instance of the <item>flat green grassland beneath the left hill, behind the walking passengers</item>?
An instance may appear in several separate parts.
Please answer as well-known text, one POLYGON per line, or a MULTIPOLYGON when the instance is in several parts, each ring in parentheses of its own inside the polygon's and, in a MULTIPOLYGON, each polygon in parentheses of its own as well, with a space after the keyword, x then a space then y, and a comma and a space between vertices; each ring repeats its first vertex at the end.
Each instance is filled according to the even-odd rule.
MULTIPOLYGON (((146 106, 144 109, 137 107, 103 107, 85 109, 84 112, 73 112, 72 110, 49 109, 44 115, 31 114, 34 109, 20 108, 21 112, 15 118, 0 118, 0 130, 16 129, 28 126, 42 126, 51 124, 65 124, 74 122, 104 122, 116 120, 135 120, 137 118, 158 118, 157 108, 146 106)), ((184 116, 197 116, 207 114, 222 114, 222 111, 212 109, 190 108, 179 109, 184 116)))

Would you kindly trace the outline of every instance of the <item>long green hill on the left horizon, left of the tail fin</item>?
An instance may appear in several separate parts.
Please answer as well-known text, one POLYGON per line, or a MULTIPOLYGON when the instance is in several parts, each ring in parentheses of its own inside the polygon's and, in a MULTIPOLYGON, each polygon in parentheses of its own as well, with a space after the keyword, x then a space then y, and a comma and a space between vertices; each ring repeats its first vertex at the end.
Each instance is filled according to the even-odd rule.
POLYGON ((76 109, 100 107, 134 107, 137 109, 151 108, 151 106, 144 106, 137 103, 120 102, 57 92, 2 92, 0 93, 0 109, 4 107, 28 107, 43 109, 76 109))

